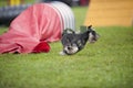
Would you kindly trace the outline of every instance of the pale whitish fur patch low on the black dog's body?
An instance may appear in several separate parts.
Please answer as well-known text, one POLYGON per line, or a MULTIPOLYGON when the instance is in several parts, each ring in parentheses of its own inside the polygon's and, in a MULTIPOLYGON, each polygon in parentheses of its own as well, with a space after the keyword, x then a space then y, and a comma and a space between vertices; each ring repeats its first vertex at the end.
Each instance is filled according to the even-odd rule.
POLYGON ((76 45, 64 46, 64 50, 63 50, 63 52, 68 55, 75 54, 78 51, 79 51, 79 47, 76 45))

